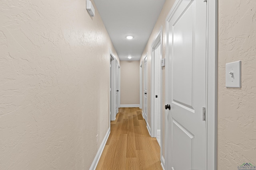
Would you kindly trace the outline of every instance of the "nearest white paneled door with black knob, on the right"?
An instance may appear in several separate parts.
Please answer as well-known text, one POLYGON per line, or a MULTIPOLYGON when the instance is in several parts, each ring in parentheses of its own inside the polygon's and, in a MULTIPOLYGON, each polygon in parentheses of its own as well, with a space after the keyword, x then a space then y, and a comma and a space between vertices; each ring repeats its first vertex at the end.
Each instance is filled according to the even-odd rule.
POLYGON ((178 0, 167 24, 168 170, 205 170, 206 3, 178 0))

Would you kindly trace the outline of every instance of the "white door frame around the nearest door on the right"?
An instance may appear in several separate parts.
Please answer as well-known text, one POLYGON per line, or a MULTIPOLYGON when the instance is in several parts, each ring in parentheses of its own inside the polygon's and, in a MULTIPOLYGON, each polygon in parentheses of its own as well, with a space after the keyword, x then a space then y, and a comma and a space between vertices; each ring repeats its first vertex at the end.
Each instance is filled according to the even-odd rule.
MULTIPOLYGON (((178 2, 176 0, 168 16, 166 17, 166 74, 165 85, 166 94, 168 91, 168 66, 169 63, 169 39, 168 39, 168 20, 172 15, 172 12, 178 8, 178 2)), ((207 21, 206 21, 206 170, 217 169, 217 83, 218 83, 218 1, 207 0, 207 21)), ((165 95, 165 102, 168 101, 168 95, 165 95)), ((165 143, 168 150, 168 111, 165 111, 165 143)), ((168 152, 165 153, 165 160, 168 160, 168 152)), ((164 168, 168 169, 168 161, 164 162, 164 168)))

